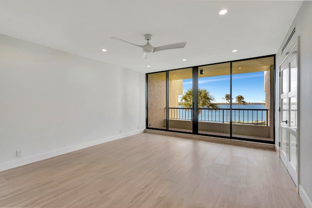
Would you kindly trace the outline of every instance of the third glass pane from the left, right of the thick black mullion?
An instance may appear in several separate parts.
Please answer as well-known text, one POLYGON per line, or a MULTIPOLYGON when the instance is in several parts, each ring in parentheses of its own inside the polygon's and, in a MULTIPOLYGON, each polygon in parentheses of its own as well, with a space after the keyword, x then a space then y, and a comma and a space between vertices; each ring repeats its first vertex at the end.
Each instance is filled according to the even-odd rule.
POLYGON ((198 68, 198 133, 230 137, 230 67, 198 68))

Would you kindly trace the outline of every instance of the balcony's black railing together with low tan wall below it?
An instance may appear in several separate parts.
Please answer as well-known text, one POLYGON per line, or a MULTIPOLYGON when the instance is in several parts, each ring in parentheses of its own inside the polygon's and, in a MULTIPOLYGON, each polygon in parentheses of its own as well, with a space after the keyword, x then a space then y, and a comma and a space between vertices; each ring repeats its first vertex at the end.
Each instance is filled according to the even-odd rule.
MULTIPOLYGON (((166 109, 165 109, 166 110, 166 109)), ((198 133, 229 136, 230 109, 199 108, 198 133)), ((192 108, 169 108, 169 129, 192 130, 192 108)), ((269 109, 232 109, 232 136, 260 140, 270 138, 269 109)))

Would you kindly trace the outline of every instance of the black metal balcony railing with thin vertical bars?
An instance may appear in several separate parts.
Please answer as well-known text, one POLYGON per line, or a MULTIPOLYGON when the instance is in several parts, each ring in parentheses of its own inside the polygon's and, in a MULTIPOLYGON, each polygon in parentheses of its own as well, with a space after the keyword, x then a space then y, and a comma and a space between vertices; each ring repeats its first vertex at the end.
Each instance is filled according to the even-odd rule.
MULTIPOLYGON (((198 108, 198 121, 230 122, 230 109, 198 108)), ((269 109, 232 108, 232 123, 268 125, 269 109)), ((192 108, 169 108, 169 119, 192 121, 192 108)))

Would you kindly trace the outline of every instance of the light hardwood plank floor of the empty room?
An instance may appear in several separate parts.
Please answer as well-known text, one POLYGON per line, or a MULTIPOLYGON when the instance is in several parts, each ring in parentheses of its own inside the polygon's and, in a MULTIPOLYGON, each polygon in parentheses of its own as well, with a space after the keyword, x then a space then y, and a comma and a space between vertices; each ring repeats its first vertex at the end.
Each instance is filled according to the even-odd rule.
POLYGON ((272 150, 142 133, 0 172, 0 207, 304 205, 272 150))

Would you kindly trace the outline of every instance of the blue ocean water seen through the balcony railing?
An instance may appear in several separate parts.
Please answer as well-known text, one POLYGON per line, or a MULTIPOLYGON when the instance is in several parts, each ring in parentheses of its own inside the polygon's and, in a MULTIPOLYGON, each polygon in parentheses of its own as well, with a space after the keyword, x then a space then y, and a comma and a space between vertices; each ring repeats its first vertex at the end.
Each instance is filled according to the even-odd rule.
MULTIPOLYGON (((230 122, 230 105, 218 105, 220 109, 202 109, 198 115, 199 121, 212 122, 230 122)), ((183 109, 181 105, 174 112, 178 115, 178 119, 192 120, 192 111, 183 109)), ((232 121, 244 123, 265 124, 267 110, 263 104, 249 104, 249 105, 233 105, 232 106, 232 121)), ((173 110, 173 109, 172 109, 173 110)), ((172 117, 169 111, 169 118, 172 117)))

